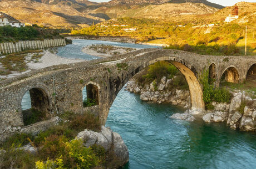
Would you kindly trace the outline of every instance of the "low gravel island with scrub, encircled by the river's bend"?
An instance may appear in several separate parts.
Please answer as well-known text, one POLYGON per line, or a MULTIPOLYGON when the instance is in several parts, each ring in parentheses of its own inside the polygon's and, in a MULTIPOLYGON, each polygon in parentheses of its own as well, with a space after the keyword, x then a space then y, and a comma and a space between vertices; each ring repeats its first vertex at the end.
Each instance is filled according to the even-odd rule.
POLYGON ((114 55, 125 54, 139 50, 138 48, 119 47, 115 45, 90 45, 82 49, 83 53, 96 57, 108 58, 114 55))

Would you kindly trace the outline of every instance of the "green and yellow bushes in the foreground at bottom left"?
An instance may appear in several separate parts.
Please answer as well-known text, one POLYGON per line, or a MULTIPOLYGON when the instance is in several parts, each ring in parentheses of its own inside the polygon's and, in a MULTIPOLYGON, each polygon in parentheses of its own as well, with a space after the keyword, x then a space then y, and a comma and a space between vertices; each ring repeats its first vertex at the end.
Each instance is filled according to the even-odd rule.
POLYGON ((83 115, 66 112, 61 119, 59 125, 37 136, 14 134, 0 144, 0 168, 109 168, 119 163, 111 150, 106 151, 100 145, 87 148, 81 139, 75 139, 85 129, 99 132, 99 118, 88 112, 83 115), (27 144, 29 151, 22 147, 27 144))

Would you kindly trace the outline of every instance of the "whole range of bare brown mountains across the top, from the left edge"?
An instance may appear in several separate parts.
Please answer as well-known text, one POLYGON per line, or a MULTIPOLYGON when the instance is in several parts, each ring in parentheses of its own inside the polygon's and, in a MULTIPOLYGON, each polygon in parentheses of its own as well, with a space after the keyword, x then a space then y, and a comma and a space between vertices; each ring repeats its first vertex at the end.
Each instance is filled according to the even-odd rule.
MULTIPOLYGON (((95 3, 88 0, 2 0, 1 12, 23 23, 54 28, 88 27, 118 17, 161 18, 211 14, 217 8, 206 6, 206 0, 193 3, 175 0, 112 0, 95 3), (195 3, 200 2, 201 4, 195 3), (177 4, 180 3, 180 4, 177 4)), ((211 5, 211 4, 209 4, 211 5)))

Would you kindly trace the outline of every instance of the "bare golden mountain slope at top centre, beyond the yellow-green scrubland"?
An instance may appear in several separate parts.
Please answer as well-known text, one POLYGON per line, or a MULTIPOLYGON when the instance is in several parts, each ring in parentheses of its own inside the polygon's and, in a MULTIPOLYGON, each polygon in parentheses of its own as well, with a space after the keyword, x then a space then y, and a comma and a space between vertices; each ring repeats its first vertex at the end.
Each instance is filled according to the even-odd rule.
MULTIPOLYGON (((110 18, 151 18, 173 21, 180 17, 202 14, 213 14, 218 8, 209 7, 202 3, 163 3, 163 4, 119 4, 112 7, 100 7, 92 13, 104 13, 110 18)), ((183 19, 183 18, 181 18, 183 19)), ((180 19, 180 20, 181 20, 180 19)))

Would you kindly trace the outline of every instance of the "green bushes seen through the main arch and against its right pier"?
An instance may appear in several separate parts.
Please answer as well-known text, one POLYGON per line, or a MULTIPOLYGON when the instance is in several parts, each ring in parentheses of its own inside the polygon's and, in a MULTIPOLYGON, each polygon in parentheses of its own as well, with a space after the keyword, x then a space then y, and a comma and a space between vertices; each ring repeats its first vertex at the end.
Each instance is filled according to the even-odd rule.
MULTIPOLYGON (((139 76, 136 76, 136 81, 142 88, 152 83, 155 90, 157 90, 157 84, 163 76, 167 79, 173 79, 168 89, 189 90, 185 77, 174 65, 165 61, 149 65, 145 71, 140 73, 139 76)), ((206 104, 206 109, 212 109, 211 103, 214 101, 217 103, 230 103, 232 95, 229 93, 229 90, 226 88, 214 88, 213 85, 209 84, 208 77, 209 70, 204 70, 200 76, 200 83, 203 85, 203 99, 206 104)))

